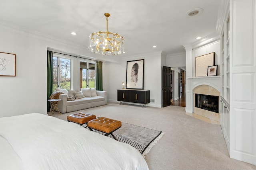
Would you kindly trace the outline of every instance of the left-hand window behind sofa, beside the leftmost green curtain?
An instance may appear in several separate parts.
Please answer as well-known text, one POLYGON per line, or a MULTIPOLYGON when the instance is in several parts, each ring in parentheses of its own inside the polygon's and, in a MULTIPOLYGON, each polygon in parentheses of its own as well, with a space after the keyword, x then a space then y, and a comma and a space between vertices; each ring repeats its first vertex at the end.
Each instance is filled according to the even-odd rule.
POLYGON ((53 53, 52 74, 53 92, 55 88, 71 89, 71 59, 53 53))

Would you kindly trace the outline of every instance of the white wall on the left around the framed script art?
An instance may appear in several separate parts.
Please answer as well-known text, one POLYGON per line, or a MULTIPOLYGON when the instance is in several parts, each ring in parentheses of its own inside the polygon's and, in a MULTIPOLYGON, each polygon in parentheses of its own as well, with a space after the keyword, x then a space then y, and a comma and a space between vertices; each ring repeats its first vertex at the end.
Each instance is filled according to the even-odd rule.
MULTIPOLYGON (((86 50, 73 43, 5 25, 0 25, 0 37, 0 52, 16 54, 16 76, 0 76, 0 117, 46 114, 47 47, 84 56, 86 50)), ((106 78, 103 87, 106 87, 106 78)))

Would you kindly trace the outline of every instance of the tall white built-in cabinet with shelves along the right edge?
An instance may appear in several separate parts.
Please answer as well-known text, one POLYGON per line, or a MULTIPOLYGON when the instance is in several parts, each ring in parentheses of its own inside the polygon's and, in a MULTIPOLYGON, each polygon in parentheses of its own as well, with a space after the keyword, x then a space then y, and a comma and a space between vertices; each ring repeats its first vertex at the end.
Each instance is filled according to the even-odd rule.
POLYGON ((256 0, 225 0, 220 124, 230 158, 256 165, 256 0))

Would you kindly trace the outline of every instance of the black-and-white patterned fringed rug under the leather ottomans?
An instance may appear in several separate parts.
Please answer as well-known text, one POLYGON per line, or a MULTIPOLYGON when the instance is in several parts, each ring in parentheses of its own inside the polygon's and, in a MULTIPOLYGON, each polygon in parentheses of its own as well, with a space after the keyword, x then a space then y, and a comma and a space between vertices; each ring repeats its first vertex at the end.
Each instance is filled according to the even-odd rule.
MULTIPOLYGON (((93 131, 104 134, 97 130, 93 131)), ((118 141, 131 145, 136 148, 142 156, 146 156, 150 149, 152 149, 157 141, 164 135, 164 132, 122 122, 122 127, 114 131, 113 134, 118 141)), ((108 137, 114 139, 112 135, 108 135, 108 137)))

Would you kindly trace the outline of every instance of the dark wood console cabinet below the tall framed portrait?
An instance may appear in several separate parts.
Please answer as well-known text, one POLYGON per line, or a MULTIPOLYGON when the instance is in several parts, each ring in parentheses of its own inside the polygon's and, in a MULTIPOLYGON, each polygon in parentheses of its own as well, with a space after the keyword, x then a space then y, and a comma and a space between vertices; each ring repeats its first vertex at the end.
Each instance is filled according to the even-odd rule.
POLYGON ((121 103, 132 102, 140 103, 142 107, 150 103, 150 90, 130 90, 121 89, 117 90, 117 100, 121 103))

